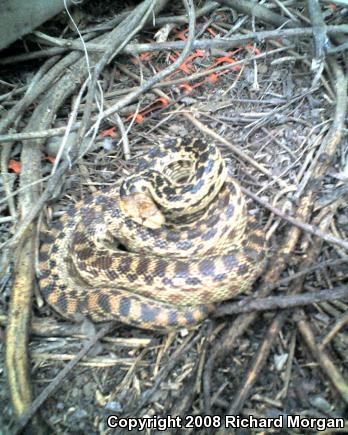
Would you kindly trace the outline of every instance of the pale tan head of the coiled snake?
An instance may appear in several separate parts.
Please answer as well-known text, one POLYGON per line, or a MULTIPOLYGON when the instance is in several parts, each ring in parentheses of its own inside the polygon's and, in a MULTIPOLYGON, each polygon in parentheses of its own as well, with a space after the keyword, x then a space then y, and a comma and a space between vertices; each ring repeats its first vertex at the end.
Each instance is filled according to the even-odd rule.
POLYGON ((136 192, 123 196, 120 199, 120 207, 126 216, 145 227, 155 230, 165 222, 164 215, 145 193, 136 192))

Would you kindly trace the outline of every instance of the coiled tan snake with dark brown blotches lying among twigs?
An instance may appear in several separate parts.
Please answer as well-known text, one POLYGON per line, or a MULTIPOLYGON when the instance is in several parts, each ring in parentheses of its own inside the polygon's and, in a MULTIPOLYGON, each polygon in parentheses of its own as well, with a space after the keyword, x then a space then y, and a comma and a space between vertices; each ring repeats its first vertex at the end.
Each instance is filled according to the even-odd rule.
POLYGON ((42 231, 39 285, 60 316, 190 328, 251 291, 263 226, 231 164, 203 138, 169 138, 134 173, 70 205, 42 231))

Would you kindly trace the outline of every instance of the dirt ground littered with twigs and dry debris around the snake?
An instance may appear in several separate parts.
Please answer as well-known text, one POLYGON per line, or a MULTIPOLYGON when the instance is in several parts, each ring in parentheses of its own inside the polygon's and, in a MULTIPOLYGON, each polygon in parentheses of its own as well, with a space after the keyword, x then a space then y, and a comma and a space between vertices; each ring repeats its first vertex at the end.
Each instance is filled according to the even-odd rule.
MULTIPOLYGON (((89 34, 87 30, 106 25, 115 10, 124 10, 123 2, 103 3, 101 7, 94 0, 72 9, 82 36, 89 34)), ((195 3, 196 12, 202 5, 195 3)), ((135 6, 129 3, 127 10, 135 6)), ((297 24, 289 19, 289 27, 311 26, 308 12, 300 3, 284 2, 280 7, 278 2, 266 2, 263 6, 288 19, 288 13, 294 14, 297 24)), ((347 22, 348 8, 344 5, 323 2, 321 12, 327 25, 347 22)), ((167 5, 158 16, 183 14, 182 4, 177 2, 167 5)), ((284 34, 247 41, 247 45, 193 49, 196 56, 187 59, 184 67, 119 111, 127 129, 130 158, 120 140, 118 120, 111 114, 101 121, 93 145, 64 172, 45 202, 39 226, 44 222, 51 224, 69 204, 134 171, 137 158, 167 137, 202 135, 220 146, 234 177, 260 200, 247 195, 249 212, 264 227, 269 240, 267 270, 251 294, 224 302, 211 318, 192 330, 164 334, 115 323, 64 376, 58 388, 47 394, 40 412, 49 430, 59 434, 128 433, 125 428, 108 427, 110 415, 179 416, 187 424, 185 430, 168 428, 162 433, 328 434, 347 430, 328 427, 319 432, 318 423, 322 418, 326 422, 348 418, 348 268, 344 245, 348 235, 348 154, 347 129, 342 124, 346 116, 346 59, 344 51, 326 55, 322 73, 316 74, 318 69, 311 69, 313 37, 286 34, 289 27, 283 27, 284 34), (223 66, 228 69, 213 70, 223 66), (337 83, 345 86, 337 89, 337 83), (300 231, 287 217, 308 227, 300 231), (320 232, 315 235, 315 230, 320 232), (328 235, 335 240, 329 240, 328 235), (335 292, 336 297, 332 296, 335 292), (307 299, 301 300, 301 295, 307 299), (269 305, 262 308, 258 305, 260 300, 269 305), (255 302, 254 306, 242 312, 250 301, 255 302), (213 420, 204 423, 197 419, 189 427, 185 418, 190 415, 215 416, 216 426, 213 420), (317 419, 317 423, 297 428, 285 424, 282 428, 230 428, 226 432, 220 427, 226 416, 282 416, 285 421, 295 415, 304 420, 317 419)), ((131 42, 153 43, 160 28, 163 30, 163 25, 147 26, 131 42)), ((187 24, 175 24, 168 41, 182 41, 185 29, 187 24)), ((279 26, 272 21, 219 5, 197 18, 195 38, 212 41, 276 29, 279 26)), ((66 13, 45 23, 40 30, 57 38, 77 38, 66 13)), ((109 31, 106 26, 98 34, 109 31)), ((51 47, 40 41, 37 36, 28 35, 3 51, 2 59, 51 47)), ((332 43, 338 44, 334 39, 332 43)), ((161 50, 118 54, 99 77, 104 107, 108 109, 129 95, 139 80, 146 82, 179 53, 161 50)), ((12 63, 0 64, 1 96, 9 93, 0 96, 3 118, 23 97, 47 59, 20 62, 13 58, 12 63), (20 88, 24 89, 16 93, 20 88)), ((79 89, 58 108, 47 129, 67 125, 78 92, 79 89)), ((19 163, 27 142, 16 138, 1 142, 1 135, 25 132, 37 104, 34 101, 29 105, 11 129, 0 131, 0 143, 6 143, 8 150, 5 160, 5 147, 2 149, 1 169, 8 170, 17 211, 21 210, 18 189, 23 171, 19 163)), ((83 97, 77 120, 82 119, 86 104, 83 97)), ((98 108, 93 103, 91 116, 96 115, 98 108)), ((40 177, 51 173, 60 140, 61 136, 53 136, 49 144, 42 144, 40 177)), ((62 158, 66 159, 64 153, 62 158)), ((33 165, 32 170, 35 168, 33 165)), ((45 180, 40 189, 46 185, 45 180)), ((3 177, 0 196, 6 197, 0 203, 3 244, 13 237, 20 219, 12 219, 3 177), (11 219, 5 219, 8 217, 11 219)), ((36 235, 34 232, 33 237, 36 235)), ((19 273, 18 252, 4 247, 1 254, 1 434, 19 433, 5 369, 5 329, 11 290, 19 273)), ((45 303, 36 280, 33 286, 28 350, 29 375, 36 397, 105 325, 63 320, 45 303)), ((147 429, 146 433, 160 433, 160 427, 147 429)))

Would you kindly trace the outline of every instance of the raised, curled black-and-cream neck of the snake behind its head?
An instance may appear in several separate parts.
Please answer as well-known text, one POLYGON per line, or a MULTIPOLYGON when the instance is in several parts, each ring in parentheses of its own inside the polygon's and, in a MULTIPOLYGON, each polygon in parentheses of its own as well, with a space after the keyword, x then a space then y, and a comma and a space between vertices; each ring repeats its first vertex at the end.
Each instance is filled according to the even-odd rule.
POLYGON ((138 173, 122 183, 121 200, 146 195, 169 220, 204 210, 227 178, 226 162, 216 146, 201 140, 181 140, 176 147, 168 141, 152 151, 154 162, 140 162, 138 173))

